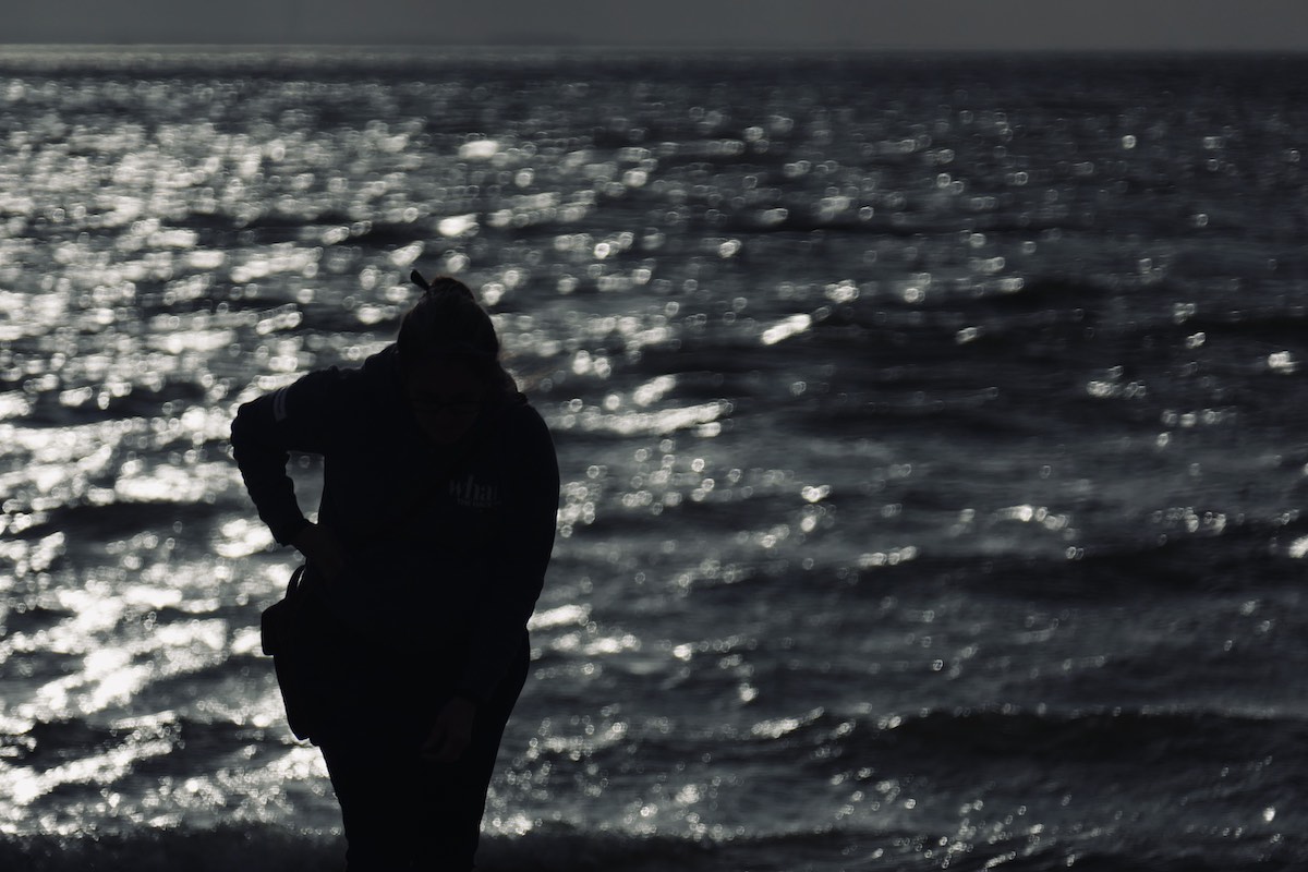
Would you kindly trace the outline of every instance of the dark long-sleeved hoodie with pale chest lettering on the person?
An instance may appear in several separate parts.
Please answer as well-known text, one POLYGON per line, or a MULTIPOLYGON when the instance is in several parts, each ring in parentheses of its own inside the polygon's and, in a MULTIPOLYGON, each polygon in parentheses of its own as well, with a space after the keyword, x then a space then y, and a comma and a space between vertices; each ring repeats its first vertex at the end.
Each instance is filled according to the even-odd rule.
POLYGON ((404 397, 394 345, 360 369, 310 373, 241 407, 232 444, 259 516, 281 544, 309 523, 290 451, 323 456, 318 523, 347 570, 320 586, 364 654, 430 663, 483 702, 525 642, 553 546, 559 465, 521 394, 437 447, 404 397))

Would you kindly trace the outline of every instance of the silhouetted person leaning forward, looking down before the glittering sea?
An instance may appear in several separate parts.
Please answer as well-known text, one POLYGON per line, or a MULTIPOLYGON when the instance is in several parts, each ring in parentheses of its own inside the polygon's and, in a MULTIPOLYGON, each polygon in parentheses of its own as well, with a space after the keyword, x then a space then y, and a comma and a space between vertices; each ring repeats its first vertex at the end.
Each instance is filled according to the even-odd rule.
POLYGON ((471 292, 437 278, 394 345, 232 428, 259 516, 307 558, 309 667, 283 686, 327 761, 351 872, 473 864, 559 506, 549 433, 498 354, 471 292), (324 459, 317 524, 289 451, 324 459))

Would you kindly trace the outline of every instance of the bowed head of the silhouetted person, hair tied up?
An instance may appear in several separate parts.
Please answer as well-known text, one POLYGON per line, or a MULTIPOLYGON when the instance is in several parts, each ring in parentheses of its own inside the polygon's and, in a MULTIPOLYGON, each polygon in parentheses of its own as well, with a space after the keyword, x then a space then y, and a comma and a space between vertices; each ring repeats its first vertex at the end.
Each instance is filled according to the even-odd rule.
POLYGON ((450 277, 424 289, 396 339, 404 394, 422 431, 437 444, 458 442, 481 409, 514 388, 500 365, 500 337, 467 285, 450 277))

